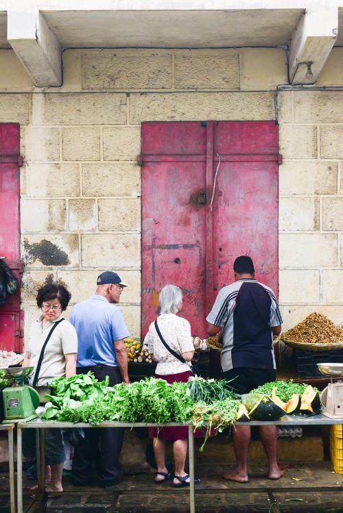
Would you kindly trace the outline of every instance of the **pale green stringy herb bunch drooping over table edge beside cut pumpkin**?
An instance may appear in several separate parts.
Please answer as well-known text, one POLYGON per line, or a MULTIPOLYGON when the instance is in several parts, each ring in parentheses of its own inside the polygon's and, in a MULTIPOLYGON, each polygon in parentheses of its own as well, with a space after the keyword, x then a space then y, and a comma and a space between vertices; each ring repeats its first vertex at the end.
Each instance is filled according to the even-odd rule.
POLYGON ((206 436, 200 451, 204 448, 206 440, 212 428, 222 433, 226 427, 232 426, 237 420, 240 401, 238 399, 230 399, 229 397, 223 401, 215 401, 211 404, 197 403, 193 407, 192 422, 198 429, 206 427, 206 436))

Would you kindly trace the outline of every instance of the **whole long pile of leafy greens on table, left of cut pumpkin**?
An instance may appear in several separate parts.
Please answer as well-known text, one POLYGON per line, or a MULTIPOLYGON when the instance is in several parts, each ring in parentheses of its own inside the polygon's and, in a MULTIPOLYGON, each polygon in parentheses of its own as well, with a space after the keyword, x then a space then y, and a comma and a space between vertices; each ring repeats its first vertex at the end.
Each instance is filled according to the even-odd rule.
POLYGON ((108 381, 99 382, 92 373, 59 377, 51 384, 53 395, 45 396, 50 402, 42 418, 91 425, 185 423, 193 418, 196 427, 209 424, 222 430, 235 422, 239 406, 226 385, 224 379, 198 377, 169 385, 151 377, 129 386, 108 387, 108 381))

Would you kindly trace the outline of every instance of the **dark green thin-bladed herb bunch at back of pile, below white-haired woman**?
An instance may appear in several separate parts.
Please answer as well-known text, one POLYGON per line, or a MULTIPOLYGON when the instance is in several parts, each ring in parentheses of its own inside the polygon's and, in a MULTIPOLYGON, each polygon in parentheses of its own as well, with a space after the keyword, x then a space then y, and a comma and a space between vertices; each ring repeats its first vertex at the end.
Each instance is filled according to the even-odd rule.
POLYGON ((224 401, 227 398, 235 399, 237 397, 230 390, 229 381, 226 379, 190 377, 187 381, 187 388, 195 403, 204 402, 210 404, 213 401, 224 401))

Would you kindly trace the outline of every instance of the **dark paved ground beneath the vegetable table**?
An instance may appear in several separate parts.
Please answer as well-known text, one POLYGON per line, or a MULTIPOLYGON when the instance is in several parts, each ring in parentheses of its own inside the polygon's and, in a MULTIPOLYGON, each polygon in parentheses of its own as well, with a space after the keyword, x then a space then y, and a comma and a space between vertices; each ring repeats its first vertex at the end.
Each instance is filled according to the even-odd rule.
MULTIPOLYGON (((297 465, 279 481, 265 478, 266 468, 251 468, 248 484, 224 481, 220 466, 209 466, 196 487, 197 513, 343 513, 343 475, 332 472, 331 464, 297 465), (316 491, 302 488, 317 487, 316 491), (324 491, 318 490, 324 487, 324 491), (264 491, 263 491, 264 489, 264 491), (240 493, 237 493, 237 490, 240 493)), ((75 488, 64 478, 64 493, 47 497, 47 513, 188 513, 187 491, 171 484, 156 486, 153 474, 126 477, 119 486, 101 490, 97 486, 75 488)), ((5 491, 8 476, 0 474, 5 491)), ((25 503, 29 494, 25 492, 25 503)), ((36 510, 38 512, 38 509, 36 510)), ((8 494, 0 497, 0 513, 9 512, 8 494)))

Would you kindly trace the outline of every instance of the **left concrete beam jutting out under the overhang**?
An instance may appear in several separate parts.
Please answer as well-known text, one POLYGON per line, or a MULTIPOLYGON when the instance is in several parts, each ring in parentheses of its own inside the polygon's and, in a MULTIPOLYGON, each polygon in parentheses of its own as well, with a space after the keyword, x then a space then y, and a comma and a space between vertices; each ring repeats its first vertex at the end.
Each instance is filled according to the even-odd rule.
POLYGON ((9 10, 8 42, 35 86, 62 86, 60 44, 43 14, 38 10, 9 10))

